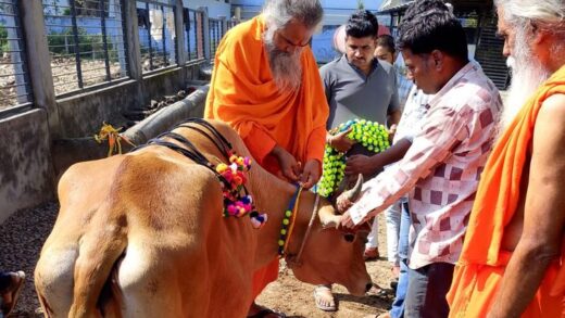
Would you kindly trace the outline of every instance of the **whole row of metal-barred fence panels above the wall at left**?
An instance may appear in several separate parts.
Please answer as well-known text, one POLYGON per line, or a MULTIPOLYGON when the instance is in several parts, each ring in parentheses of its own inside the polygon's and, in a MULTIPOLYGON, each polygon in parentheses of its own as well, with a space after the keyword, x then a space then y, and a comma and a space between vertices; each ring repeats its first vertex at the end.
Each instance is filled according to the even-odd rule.
MULTIPOLYGON (((27 4, 24 1, 27 0, 0 0, 0 111, 34 102, 27 59, 34 59, 36 52, 26 51, 27 28, 29 39, 38 34, 33 23, 21 21, 22 7, 27 4)), ((237 24, 210 18, 205 9, 184 8, 177 1, 129 1, 41 0, 39 10, 48 46, 40 48, 38 56, 46 58, 42 50, 47 49, 55 98, 106 87, 131 76, 137 78, 137 67, 146 74, 177 65, 179 50, 186 53, 186 62, 200 63, 209 58, 213 61, 222 37, 237 24), (136 10, 137 16, 126 16, 126 11, 136 10), (184 20, 179 30, 177 10, 183 12, 178 16, 184 20), (126 34, 130 27, 126 21, 137 21, 137 35, 126 34), (176 31, 185 33, 184 44, 176 31), (139 51, 129 52, 129 42, 133 48, 139 43, 139 51)))

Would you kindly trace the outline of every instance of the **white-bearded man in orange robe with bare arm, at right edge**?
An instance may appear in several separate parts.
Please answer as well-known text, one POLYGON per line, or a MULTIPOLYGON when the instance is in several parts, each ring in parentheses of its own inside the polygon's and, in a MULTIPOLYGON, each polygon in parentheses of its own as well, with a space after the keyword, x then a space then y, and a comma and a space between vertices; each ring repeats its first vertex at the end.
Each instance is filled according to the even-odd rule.
POLYGON ((515 66, 450 317, 565 317, 565 10, 553 0, 495 2, 515 66))

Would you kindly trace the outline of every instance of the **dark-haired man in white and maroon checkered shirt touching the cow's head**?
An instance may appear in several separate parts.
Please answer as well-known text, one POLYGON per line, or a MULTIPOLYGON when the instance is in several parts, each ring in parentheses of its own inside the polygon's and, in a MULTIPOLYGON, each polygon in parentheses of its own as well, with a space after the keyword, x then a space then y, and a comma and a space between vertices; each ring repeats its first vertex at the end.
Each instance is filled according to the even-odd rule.
POLYGON ((414 2, 399 31, 410 75, 435 97, 399 164, 367 181, 355 204, 340 198, 338 206, 349 207, 342 226, 354 228, 409 194, 412 250, 405 316, 447 317, 445 294, 502 102, 480 66, 468 61, 463 27, 442 1, 414 2))

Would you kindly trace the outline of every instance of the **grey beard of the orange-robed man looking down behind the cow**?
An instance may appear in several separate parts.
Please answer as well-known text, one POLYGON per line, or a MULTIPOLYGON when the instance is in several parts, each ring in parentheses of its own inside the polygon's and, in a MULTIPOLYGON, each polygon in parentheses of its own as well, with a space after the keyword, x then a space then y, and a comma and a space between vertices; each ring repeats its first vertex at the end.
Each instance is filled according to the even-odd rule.
POLYGON ((268 52, 268 63, 275 82, 280 91, 296 91, 302 84, 302 64, 300 56, 302 49, 292 53, 280 51, 273 42, 275 28, 269 27, 263 35, 268 52))

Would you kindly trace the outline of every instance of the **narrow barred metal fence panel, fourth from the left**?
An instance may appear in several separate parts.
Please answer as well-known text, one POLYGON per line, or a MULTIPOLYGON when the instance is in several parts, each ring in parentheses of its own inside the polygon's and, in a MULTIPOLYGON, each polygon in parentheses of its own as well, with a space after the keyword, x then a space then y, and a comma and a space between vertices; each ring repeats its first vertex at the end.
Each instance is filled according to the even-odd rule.
POLYGON ((188 61, 204 59, 204 12, 185 8, 185 48, 188 61))

